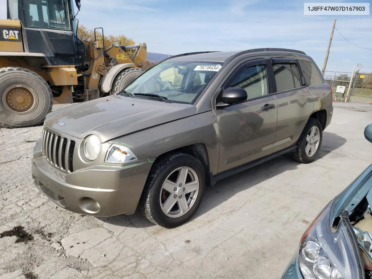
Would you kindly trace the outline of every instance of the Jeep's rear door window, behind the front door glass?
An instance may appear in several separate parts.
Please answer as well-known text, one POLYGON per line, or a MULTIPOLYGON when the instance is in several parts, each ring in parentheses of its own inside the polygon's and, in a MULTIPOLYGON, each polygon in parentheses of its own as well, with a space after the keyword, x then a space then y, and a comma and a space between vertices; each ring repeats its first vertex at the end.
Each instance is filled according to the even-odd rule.
POLYGON ((276 92, 301 87, 296 64, 273 64, 276 92))

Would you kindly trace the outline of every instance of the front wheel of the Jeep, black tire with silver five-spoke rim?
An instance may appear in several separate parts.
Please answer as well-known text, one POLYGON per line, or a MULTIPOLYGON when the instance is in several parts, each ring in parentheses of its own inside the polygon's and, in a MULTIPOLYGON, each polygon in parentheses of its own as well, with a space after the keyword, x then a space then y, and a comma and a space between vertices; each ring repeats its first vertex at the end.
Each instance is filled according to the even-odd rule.
MULTIPOLYGON (((154 224, 166 228, 177 227, 187 222, 195 214, 202 201, 204 189, 205 171, 202 163, 192 155, 186 153, 171 154, 164 157, 153 166, 142 192, 140 208, 145 217, 154 224), (179 168, 181 169, 177 170, 179 168), (180 184, 177 183, 177 176, 180 173, 183 173, 183 170, 186 168, 189 169, 187 171, 185 187, 184 185, 179 187, 180 184), (196 178, 198 179, 198 186, 196 186, 196 178), (167 182, 174 181, 177 183, 166 184, 170 185, 169 187, 171 188, 170 190, 172 193, 163 189, 163 183, 166 183, 166 180, 167 182), (185 190, 187 188, 188 190, 195 188, 197 189, 197 192, 194 191, 183 195, 183 192, 188 191, 185 190), (176 189, 176 191, 174 191, 174 189, 176 189), (191 198, 192 195, 194 195, 193 198, 191 198), (170 205, 172 203, 174 205, 169 207, 170 211, 166 214, 166 209, 163 209, 161 203, 164 205, 167 201, 170 202, 170 205), (180 208, 182 208, 180 203, 184 201, 186 201, 186 204, 190 206, 183 213, 180 210, 180 208)), ((185 205, 185 203, 183 204, 185 205)))

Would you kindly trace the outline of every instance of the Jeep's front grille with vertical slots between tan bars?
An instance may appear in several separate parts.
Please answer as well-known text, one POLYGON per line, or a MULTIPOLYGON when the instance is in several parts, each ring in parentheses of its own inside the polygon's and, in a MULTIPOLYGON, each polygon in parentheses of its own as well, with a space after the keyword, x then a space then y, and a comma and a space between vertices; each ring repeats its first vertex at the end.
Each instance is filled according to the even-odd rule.
POLYGON ((75 141, 54 134, 47 129, 43 129, 42 151, 44 157, 55 167, 73 172, 73 155, 75 141))

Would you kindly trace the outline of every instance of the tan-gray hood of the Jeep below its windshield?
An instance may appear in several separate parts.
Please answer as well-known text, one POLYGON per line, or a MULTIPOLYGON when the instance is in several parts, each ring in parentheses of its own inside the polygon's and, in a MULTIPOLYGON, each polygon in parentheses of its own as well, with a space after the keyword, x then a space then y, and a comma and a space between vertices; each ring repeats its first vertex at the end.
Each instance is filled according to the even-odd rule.
POLYGON ((56 110, 47 116, 45 125, 81 139, 96 134, 105 142, 195 112, 193 105, 115 95, 56 110))

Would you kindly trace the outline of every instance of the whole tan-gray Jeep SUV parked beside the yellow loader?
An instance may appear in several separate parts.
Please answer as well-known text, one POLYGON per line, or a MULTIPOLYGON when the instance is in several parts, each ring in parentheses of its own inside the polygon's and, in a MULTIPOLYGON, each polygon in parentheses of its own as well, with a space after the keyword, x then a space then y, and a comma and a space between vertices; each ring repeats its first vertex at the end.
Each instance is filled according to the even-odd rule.
POLYGON ((175 227, 205 186, 291 153, 310 163, 332 91, 302 51, 170 57, 120 89, 50 113, 32 160, 36 187, 79 214, 133 214, 175 227))

